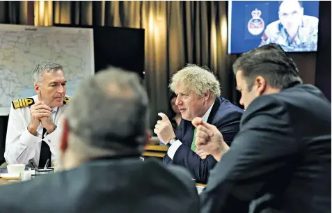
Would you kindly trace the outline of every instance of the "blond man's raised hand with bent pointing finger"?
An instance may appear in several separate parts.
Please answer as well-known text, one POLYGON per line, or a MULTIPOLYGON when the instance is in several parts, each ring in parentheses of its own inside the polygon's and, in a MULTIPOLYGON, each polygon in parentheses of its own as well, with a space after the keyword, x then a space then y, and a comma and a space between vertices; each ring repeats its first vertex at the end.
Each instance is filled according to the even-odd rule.
POLYGON ((174 130, 171 121, 164 113, 158 113, 158 116, 161 117, 161 120, 157 121, 153 132, 157 134, 162 143, 167 144, 171 139, 175 138, 174 130))

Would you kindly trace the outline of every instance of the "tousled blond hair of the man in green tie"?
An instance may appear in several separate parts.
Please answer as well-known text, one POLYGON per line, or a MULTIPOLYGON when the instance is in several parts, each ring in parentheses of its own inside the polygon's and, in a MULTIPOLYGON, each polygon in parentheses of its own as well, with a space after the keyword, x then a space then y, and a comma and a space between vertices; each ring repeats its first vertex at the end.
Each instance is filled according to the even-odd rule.
POLYGON ((173 75, 169 88, 174 92, 175 87, 180 82, 184 84, 184 87, 193 90, 198 97, 203 97, 207 90, 210 90, 210 93, 216 97, 221 95, 219 81, 205 67, 188 64, 173 75))

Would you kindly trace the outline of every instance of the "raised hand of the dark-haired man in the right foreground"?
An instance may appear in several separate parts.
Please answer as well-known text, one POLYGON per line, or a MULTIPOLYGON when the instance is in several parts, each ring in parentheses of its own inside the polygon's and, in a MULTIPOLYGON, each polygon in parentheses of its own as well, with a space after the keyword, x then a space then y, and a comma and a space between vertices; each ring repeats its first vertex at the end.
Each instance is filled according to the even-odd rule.
POLYGON ((204 150, 220 161, 222 155, 229 150, 228 145, 223 141, 223 135, 214 125, 203 122, 202 118, 193 118, 191 123, 197 127, 196 129, 196 146, 200 150, 204 150))

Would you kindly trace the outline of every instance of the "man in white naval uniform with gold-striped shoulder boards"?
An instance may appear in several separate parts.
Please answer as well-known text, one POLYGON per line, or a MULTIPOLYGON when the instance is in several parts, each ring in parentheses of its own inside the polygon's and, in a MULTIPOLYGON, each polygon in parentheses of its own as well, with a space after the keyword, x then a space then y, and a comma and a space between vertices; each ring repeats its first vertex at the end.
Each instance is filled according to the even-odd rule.
POLYGON ((66 80, 61 65, 39 63, 32 72, 37 95, 14 100, 10 107, 5 159, 8 164, 43 167, 56 159, 60 118, 70 97, 65 96, 66 80))

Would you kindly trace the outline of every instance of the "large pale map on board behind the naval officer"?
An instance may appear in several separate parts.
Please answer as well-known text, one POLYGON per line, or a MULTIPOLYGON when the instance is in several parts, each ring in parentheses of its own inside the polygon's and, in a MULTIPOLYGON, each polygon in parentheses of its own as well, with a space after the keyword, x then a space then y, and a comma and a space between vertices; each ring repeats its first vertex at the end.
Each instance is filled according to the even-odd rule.
POLYGON ((32 70, 41 61, 63 66, 67 95, 94 74, 93 29, 0 24, 0 116, 13 100, 36 95, 32 70))

